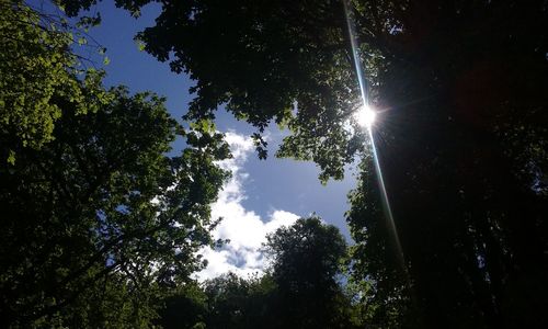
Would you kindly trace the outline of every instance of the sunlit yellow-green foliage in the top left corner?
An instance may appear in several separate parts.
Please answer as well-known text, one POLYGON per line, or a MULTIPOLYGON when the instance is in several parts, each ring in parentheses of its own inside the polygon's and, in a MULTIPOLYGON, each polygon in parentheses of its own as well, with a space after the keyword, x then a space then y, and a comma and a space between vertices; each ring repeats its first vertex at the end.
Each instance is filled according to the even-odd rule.
MULTIPOLYGON (((66 22, 42 14, 22 1, 0 1, 0 131, 25 147, 39 149, 54 139, 54 124, 62 114, 52 101, 64 98, 78 114, 96 111, 109 99, 98 88, 101 77, 91 71, 84 86, 73 78, 77 56, 66 22), (95 94, 85 94, 94 90, 95 94)), ((13 149, 2 155, 13 163, 13 149)))

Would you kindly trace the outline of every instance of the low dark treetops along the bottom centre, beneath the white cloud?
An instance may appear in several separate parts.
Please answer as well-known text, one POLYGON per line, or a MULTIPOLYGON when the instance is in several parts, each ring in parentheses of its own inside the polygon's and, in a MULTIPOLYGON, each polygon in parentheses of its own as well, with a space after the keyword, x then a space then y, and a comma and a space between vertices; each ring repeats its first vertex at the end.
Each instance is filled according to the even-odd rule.
POLYGON ((228 274, 167 300, 164 328, 358 328, 351 296, 338 282, 346 253, 333 226, 301 218, 269 237, 262 277, 228 274), (194 327, 193 327, 194 326, 194 327))

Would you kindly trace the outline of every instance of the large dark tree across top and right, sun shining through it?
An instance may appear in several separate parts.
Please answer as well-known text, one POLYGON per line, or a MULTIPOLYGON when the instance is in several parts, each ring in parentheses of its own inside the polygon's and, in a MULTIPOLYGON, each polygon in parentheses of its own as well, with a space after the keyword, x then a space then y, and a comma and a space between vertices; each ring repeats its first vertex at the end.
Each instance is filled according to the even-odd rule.
MULTIPOLYGON (((95 1, 66 2, 77 13, 95 1)), ((147 2, 117 3, 136 12, 147 2)), ((385 280, 393 264, 378 259, 393 232, 378 225, 380 215, 363 217, 376 193, 365 172, 347 218, 356 264, 379 265, 356 280, 375 277, 388 292, 408 276, 400 291, 415 300, 421 327, 541 327, 546 4, 356 0, 349 8, 346 15, 331 0, 163 1, 157 24, 138 37, 197 81, 187 117, 210 118, 226 103, 259 131, 272 120, 286 124, 292 135, 278 155, 315 160, 322 179, 341 178, 364 149, 364 134, 346 128, 361 104, 356 56, 383 111, 375 138, 403 253, 402 273, 385 280)))

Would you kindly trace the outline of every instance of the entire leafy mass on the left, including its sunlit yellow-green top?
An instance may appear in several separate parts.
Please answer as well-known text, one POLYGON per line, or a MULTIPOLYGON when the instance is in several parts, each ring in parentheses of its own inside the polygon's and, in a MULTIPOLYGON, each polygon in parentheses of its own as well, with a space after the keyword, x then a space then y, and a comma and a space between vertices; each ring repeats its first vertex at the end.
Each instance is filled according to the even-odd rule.
POLYGON ((155 94, 79 79, 68 32, 1 10, 0 326, 148 327, 214 242, 228 147, 155 94), (168 157, 176 135, 187 147, 168 157))

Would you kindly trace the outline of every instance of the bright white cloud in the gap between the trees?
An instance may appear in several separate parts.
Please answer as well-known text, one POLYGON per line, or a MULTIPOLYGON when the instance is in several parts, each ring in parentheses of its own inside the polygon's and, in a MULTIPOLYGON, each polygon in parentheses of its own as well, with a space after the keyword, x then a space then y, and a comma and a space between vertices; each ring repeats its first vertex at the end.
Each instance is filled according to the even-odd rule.
POLYGON ((213 231, 213 237, 229 239, 230 242, 218 250, 209 247, 201 250, 208 261, 207 268, 196 273, 196 277, 201 281, 228 272, 242 276, 253 273, 261 275, 266 265, 261 252, 266 235, 282 226, 289 226, 299 218, 293 213, 275 209, 263 220, 255 212, 243 207, 242 201, 246 200, 243 182, 248 179, 243 166, 249 155, 253 152, 253 141, 233 132, 226 134, 226 140, 230 145, 233 158, 220 161, 218 164, 230 170, 232 178, 225 184, 218 201, 213 204, 212 218, 222 217, 222 222, 213 231))

